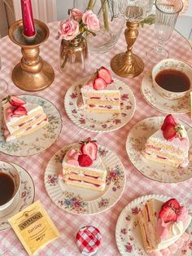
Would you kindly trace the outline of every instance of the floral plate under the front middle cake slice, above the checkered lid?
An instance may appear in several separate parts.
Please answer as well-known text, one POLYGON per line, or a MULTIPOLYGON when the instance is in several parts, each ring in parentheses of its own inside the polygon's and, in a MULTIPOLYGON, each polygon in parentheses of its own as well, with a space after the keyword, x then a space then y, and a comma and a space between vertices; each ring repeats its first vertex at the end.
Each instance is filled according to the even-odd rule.
POLYGON ((56 152, 46 166, 45 186, 50 199, 70 214, 98 214, 111 208, 124 192, 126 176, 124 166, 116 155, 98 146, 98 154, 107 169, 106 188, 97 192, 87 188, 68 185, 59 179, 64 154, 72 145, 56 152))

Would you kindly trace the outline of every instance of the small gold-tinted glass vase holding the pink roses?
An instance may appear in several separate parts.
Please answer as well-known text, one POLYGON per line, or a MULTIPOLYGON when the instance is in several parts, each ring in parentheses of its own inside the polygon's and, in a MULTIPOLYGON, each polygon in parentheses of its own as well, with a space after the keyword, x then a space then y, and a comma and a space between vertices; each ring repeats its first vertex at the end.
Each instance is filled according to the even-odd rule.
POLYGON ((74 77, 83 77, 88 62, 86 39, 81 36, 71 41, 62 39, 60 45, 60 69, 63 73, 74 77))

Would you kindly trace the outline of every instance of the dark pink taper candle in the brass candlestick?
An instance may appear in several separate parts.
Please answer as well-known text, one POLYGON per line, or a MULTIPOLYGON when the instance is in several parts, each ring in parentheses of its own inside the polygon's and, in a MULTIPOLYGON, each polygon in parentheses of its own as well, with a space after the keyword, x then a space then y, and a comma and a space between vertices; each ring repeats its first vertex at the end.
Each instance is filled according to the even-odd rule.
POLYGON ((35 26, 33 20, 33 11, 31 0, 20 0, 22 16, 23 16, 23 29, 24 36, 33 37, 35 35, 35 26))

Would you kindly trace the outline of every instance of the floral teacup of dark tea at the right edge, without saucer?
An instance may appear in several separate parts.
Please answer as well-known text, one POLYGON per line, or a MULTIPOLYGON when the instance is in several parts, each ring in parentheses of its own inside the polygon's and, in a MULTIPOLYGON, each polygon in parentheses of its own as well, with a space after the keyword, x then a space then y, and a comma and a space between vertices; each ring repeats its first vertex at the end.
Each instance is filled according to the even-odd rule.
POLYGON ((165 59, 152 69, 152 80, 155 90, 164 98, 179 99, 192 88, 192 67, 182 60, 165 59))

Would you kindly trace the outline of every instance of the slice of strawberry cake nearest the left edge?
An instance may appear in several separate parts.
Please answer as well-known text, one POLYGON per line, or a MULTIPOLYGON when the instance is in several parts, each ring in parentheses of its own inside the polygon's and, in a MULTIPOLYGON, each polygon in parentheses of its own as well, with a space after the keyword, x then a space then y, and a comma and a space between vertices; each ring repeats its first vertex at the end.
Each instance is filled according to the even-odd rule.
POLYGON ((7 141, 29 135, 48 124, 43 108, 18 96, 2 100, 2 123, 7 141))

